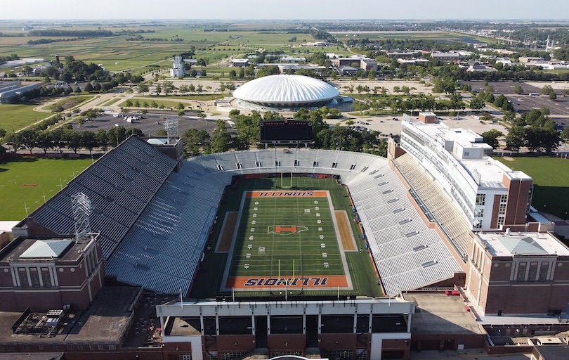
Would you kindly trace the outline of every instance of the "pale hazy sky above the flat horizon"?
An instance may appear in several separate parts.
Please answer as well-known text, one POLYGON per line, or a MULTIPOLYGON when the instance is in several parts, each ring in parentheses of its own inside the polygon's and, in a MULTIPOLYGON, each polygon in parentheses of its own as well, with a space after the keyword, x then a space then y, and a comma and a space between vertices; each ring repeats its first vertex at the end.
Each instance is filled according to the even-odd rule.
POLYGON ((569 20, 567 0, 1 0, 0 20, 569 20))

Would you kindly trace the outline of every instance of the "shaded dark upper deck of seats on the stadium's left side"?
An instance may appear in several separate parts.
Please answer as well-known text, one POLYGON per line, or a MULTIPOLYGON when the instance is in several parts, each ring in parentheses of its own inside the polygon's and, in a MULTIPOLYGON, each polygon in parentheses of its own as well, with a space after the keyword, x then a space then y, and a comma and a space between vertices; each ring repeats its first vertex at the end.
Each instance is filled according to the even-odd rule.
POLYGON ((74 233, 71 197, 85 193, 93 210, 91 231, 100 232, 103 257, 108 259, 175 165, 175 160, 131 136, 30 216, 54 233, 74 233))

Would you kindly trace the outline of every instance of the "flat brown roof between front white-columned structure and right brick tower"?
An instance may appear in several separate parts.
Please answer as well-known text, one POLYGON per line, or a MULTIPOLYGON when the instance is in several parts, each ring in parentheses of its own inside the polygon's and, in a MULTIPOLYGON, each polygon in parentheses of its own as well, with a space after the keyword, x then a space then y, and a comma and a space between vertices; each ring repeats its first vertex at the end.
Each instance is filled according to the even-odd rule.
POLYGON ((445 293, 407 293, 405 300, 415 303, 411 321, 414 334, 484 334, 459 296, 445 293))

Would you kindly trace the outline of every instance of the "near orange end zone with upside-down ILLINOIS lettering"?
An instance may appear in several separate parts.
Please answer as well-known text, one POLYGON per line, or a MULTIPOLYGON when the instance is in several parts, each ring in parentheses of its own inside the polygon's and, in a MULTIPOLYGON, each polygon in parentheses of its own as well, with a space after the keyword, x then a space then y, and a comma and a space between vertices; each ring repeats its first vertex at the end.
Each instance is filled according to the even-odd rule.
POLYGON ((270 290, 270 288, 322 290, 328 288, 347 288, 348 279, 344 275, 307 276, 303 278, 270 278, 249 276, 230 276, 225 283, 226 289, 270 290))

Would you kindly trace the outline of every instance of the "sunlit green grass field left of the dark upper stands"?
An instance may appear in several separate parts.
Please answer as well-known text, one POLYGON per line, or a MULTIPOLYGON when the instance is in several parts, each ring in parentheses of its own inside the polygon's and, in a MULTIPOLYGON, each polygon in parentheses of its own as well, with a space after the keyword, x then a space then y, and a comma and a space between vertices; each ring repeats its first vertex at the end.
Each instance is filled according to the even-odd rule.
MULTIPOLYGON (((0 161, 0 221, 18 221, 60 191, 91 158, 8 158, 0 161)), ((71 204, 70 204, 71 206, 71 204)))

